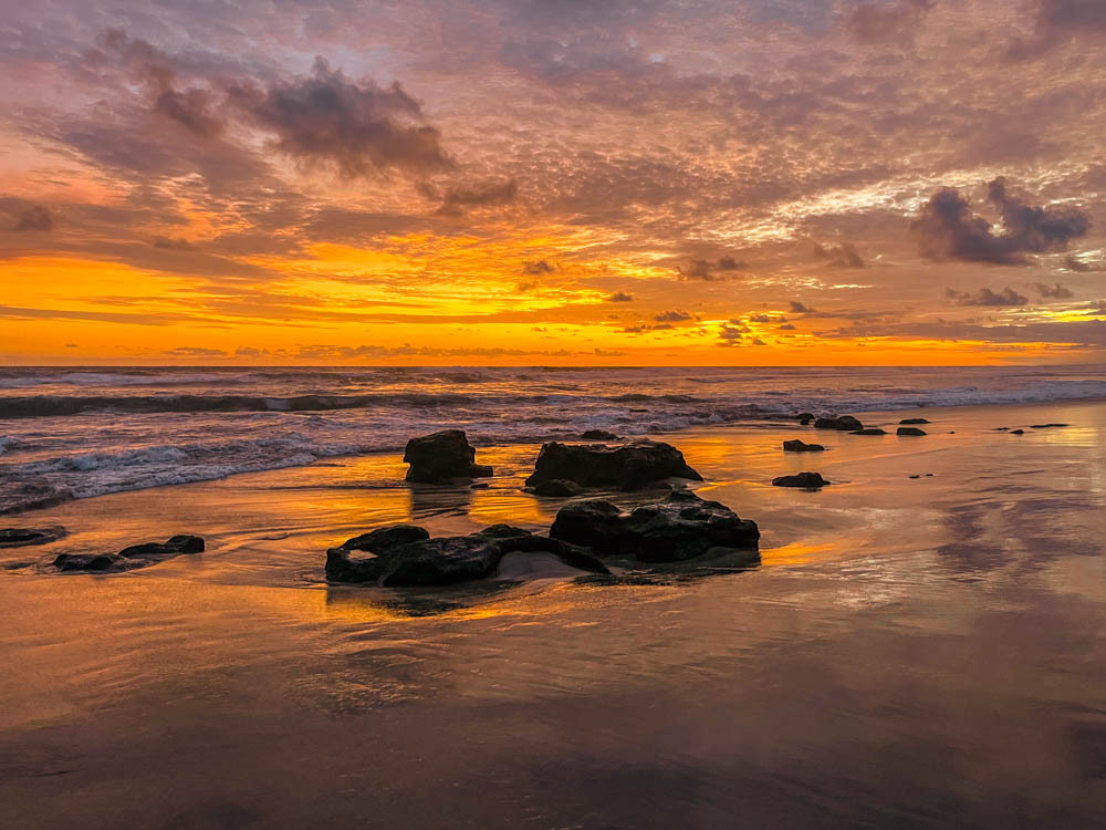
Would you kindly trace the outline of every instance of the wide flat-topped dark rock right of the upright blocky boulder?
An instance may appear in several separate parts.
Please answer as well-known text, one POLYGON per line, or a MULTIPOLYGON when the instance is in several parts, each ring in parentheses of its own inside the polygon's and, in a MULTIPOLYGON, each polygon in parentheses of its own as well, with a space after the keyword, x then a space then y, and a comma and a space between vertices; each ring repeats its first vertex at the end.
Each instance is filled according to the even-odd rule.
POLYGON ((665 478, 702 480, 684 460, 684 454, 670 444, 637 440, 608 446, 550 442, 542 445, 526 485, 536 487, 543 481, 565 479, 584 487, 637 490, 665 478))

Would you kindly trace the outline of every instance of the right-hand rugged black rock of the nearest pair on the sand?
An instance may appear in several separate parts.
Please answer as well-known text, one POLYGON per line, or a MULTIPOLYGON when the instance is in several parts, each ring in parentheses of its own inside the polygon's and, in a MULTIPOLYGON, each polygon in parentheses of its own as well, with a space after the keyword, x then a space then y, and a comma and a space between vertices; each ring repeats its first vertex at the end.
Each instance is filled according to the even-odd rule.
POLYGON ((630 513, 597 499, 568 505, 557 512, 550 537, 643 562, 679 562, 711 549, 755 548, 760 531, 718 501, 675 490, 630 513))

